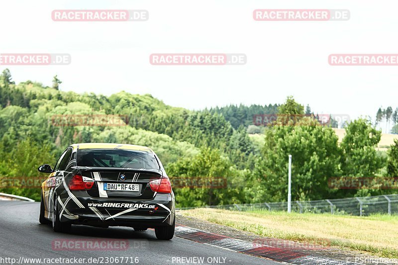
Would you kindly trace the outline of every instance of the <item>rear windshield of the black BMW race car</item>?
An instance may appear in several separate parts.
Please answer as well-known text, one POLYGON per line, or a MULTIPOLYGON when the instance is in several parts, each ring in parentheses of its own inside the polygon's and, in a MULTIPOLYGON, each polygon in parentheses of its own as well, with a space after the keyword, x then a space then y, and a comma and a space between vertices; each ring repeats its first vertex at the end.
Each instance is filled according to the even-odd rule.
POLYGON ((77 165, 82 167, 159 169, 150 152, 121 149, 80 149, 77 165))

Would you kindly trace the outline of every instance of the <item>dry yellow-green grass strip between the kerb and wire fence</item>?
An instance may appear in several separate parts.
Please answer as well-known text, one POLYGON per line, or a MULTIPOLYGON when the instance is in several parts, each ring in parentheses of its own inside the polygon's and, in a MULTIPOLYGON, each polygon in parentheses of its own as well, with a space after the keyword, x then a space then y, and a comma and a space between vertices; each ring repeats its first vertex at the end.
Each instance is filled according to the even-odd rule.
POLYGON ((269 211, 238 212, 211 208, 184 210, 181 213, 264 237, 349 248, 380 257, 398 258, 397 215, 359 217, 269 211))

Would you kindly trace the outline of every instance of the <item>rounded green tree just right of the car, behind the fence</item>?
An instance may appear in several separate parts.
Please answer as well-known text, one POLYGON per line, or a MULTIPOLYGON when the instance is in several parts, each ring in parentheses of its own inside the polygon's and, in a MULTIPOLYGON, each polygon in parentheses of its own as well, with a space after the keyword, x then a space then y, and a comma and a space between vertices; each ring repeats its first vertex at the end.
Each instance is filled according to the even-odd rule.
POLYGON ((244 178, 219 150, 202 148, 194 158, 182 158, 169 164, 166 170, 172 184, 176 183, 173 190, 179 207, 240 203, 244 197, 239 186, 244 178), (212 187, 211 183, 220 179, 225 182, 212 187))

